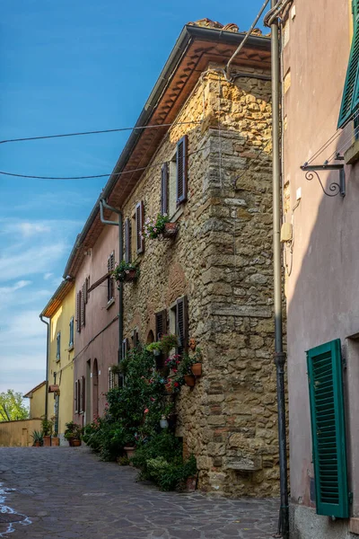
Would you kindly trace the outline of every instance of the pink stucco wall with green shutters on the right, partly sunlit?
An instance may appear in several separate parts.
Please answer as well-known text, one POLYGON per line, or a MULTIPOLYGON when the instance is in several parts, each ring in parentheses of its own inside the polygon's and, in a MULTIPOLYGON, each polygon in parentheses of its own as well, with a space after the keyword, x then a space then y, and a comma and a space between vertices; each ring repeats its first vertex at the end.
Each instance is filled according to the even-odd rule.
MULTIPOLYGON (((340 338, 348 361, 346 417, 348 464, 354 513, 359 509, 359 164, 346 166, 346 198, 324 196, 317 179, 307 181, 300 166, 336 133, 351 42, 349 1, 301 0, 289 13, 289 40, 284 49, 285 93, 284 182, 289 182, 287 222, 293 222, 293 259, 287 252, 288 377, 291 497, 310 505, 311 425, 305 351, 340 338), (286 77, 286 81, 288 81, 286 77), (302 199, 296 204, 296 191, 302 199)), ((288 31, 288 27, 286 31, 288 31)), ((288 34, 286 34, 288 36, 288 34)), ((336 148, 346 150, 353 126, 312 164, 323 163, 336 148)), ((324 185, 338 172, 320 173, 324 185)))

